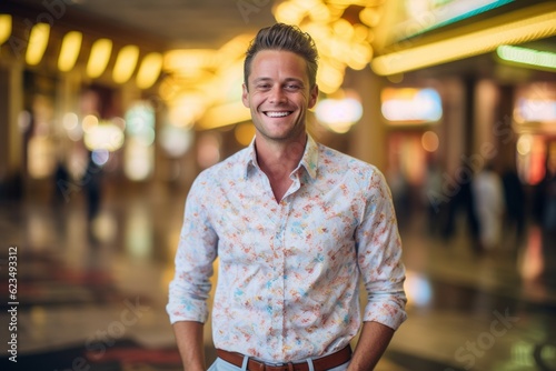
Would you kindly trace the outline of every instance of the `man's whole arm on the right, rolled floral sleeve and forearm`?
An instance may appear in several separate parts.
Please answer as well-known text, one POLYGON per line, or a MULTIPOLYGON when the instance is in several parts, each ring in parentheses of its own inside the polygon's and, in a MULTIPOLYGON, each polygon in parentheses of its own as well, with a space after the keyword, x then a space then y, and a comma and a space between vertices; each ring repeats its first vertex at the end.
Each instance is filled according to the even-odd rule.
POLYGON ((371 178, 368 202, 357 240, 367 304, 349 371, 373 370, 406 319, 401 241, 390 192, 379 172, 371 178))

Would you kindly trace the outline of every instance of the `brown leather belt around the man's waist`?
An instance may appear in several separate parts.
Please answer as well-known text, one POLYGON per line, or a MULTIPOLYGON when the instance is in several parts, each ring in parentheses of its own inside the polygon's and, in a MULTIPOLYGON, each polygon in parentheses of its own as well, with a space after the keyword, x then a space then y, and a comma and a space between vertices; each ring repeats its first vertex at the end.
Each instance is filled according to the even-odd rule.
MULTIPOLYGON (((225 360, 235 367, 241 368, 244 365, 244 354, 232 353, 221 349, 216 350, 218 358, 225 360)), ((337 368, 340 364, 348 362, 351 359, 351 348, 348 345, 342 350, 337 351, 321 358, 312 360, 312 367, 315 371, 325 371, 337 368)), ((304 362, 289 362, 281 365, 272 365, 264 362, 249 359, 247 362, 248 371, 309 371, 309 363, 304 362)))

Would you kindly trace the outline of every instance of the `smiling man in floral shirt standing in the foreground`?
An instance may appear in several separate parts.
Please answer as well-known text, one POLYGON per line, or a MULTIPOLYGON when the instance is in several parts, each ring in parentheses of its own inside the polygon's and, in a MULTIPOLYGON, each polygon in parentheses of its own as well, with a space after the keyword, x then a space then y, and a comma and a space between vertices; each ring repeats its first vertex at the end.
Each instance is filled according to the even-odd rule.
POLYGON ((205 370, 212 263, 218 359, 209 370, 370 370, 405 320, 401 247, 373 166, 306 131, 317 50, 297 27, 259 31, 242 101, 251 146, 201 172, 188 194, 167 311, 185 370, 205 370), (358 281, 368 304, 361 325, 358 281))

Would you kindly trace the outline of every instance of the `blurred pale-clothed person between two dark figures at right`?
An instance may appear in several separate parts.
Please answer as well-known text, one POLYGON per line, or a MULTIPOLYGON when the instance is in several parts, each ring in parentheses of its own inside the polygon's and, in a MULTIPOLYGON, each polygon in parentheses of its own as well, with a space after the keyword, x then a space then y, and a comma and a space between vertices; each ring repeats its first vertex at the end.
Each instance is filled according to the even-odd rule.
POLYGON ((480 247, 493 250, 499 245, 502 238, 504 187, 492 163, 485 164, 475 176, 471 189, 479 223, 480 247))

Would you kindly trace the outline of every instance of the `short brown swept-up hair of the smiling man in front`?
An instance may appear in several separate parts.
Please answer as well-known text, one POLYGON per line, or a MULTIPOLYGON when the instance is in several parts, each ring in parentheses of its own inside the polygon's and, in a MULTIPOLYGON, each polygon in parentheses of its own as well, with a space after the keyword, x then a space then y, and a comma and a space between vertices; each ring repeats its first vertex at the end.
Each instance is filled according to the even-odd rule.
POLYGON ((297 26, 276 23, 259 30, 247 49, 244 62, 246 87, 248 87, 247 80, 251 73, 252 59, 262 50, 291 51, 302 57, 307 63, 309 87, 314 88, 317 83, 318 51, 310 34, 301 31, 297 26))

